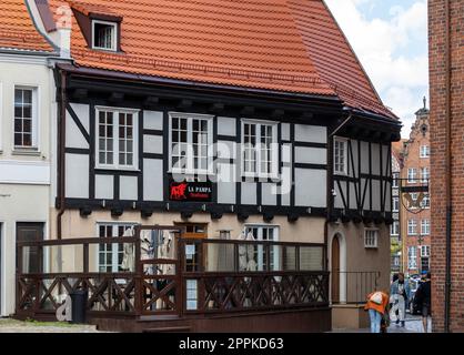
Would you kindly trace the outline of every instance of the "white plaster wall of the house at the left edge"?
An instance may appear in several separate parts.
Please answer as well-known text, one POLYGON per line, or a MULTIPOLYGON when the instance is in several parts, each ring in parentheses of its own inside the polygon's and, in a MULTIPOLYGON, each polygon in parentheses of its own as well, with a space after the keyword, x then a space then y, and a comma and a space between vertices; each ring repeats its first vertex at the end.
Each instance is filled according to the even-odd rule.
POLYGON ((49 235, 49 211, 54 203, 50 186, 54 180, 51 169, 54 159, 51 148, 56 144, 56 134, 51 134, 57 113, 54 93, 53 74, 43 58, 0 54, 2 316, 14 312, 16 223, 46 223, 46 237, 49 235), (20 153, 13 149, 14 85, 37 88, 37 151, 20 153))

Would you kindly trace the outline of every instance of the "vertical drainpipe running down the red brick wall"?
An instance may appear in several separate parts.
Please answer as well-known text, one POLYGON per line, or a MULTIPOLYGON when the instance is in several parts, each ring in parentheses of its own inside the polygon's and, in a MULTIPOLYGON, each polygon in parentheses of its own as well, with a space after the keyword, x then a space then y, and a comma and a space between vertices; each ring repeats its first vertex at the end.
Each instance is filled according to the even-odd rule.
POLYGON ((445 120, 446 120, 446 156, 445 156, 445 185, 446 185, 446 270, 445 270, 445 333, 450 333, 450 313, 451 313, 451 227, 452 227, 452 200, 451 200, 451 187, 452 187, 452 175, 451 175, 451 10, 450 0, 445 2, 445 75, 446 75, 446 104, 445 104, 445 120))

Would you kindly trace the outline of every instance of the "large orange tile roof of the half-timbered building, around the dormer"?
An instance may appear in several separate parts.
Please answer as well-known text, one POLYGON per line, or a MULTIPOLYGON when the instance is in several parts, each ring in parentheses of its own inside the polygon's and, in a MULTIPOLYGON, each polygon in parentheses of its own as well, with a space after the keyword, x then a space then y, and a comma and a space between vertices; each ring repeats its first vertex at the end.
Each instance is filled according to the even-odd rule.
MULTIPOLYGON (((394 118, 322 0, 49 0, 57 13, 123 18, 122 52, 91 50, 72 19, 81 67, 244 88, 339 95, 394 118)), ((58 16, 56 16, 58 20, 58 16)))

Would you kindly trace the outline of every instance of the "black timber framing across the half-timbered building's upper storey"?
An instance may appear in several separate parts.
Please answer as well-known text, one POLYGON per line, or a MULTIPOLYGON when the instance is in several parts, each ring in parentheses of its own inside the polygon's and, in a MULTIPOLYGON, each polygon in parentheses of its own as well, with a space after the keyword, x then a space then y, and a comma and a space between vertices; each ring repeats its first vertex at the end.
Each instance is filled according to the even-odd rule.
MULTIPOLYGON (((140 210, 153 212, 159 211, 174 211, 174 212, 206 212, 222 215, 223 213, 240 214, 246 219, 248 215, 261 214, 273 215, 300 215, 300 216, 329 216, 339 214, 349 214, 350 216, 359 215, 375 215, 376 217, 385 217, 391 214, 391 211, 386 211, 386 190, 387 184, 391 183, 391 168, 384 166, 390 164, 390 158, 387 161, 382 161, 382 144, 390 144, 391 141, 399 139, 400 124, 396 121, 385 119, 382 116, 370 115, 363 112, 353 113, 356 114, 356 119, 346 128, 341 130, 337 134, 341 136, 352 138, 357 140, 357 156, 353 154, 352 143, 349 141, 349 161, 350 169, 353 176, 332 176, 332 169, 327 169, 327 164, 332 164, 332 144, 333 139, 329 135, 336 122, 340 122, 346 112, 343 109, 341 102, 336 98, 323 98, 299 94, 286 94, 262 90, 243 90, 240 88, 226 88, 221 85, 208 85, 195 84, 164 79, 141 78, 134 75, 124 75, 120 73, 108 73, 100 70, 90 70, 85 68, 75 68, 70 64, 59 64, 60 70, 64 70, 68 75, 67 92, 69 95, 69 103, 67 110, 71 119, 75 122, 79 131, 83 134, 84 139, 89 142, 89 149, 65 148, 68 154, 83 154, 89 155, 89 199, 70 199, 67 197, 67 209, 90 209, 90 210, 110 210, 118 209, 122 211, 140 210), (114 103, 112 97, 114 93, 120 94, 122 102, 114 103), (79 121, 78 115, 72 110, 71 103, 83 103, 89 105, 89 133, 85 132, 82 123, 79 121), (188 105, 186 105, 188 104, 188 105), (138 170, 137 171, 123 171, 123 170, 108 170, 95 169, 95 106, 120 106, 128 109, 138 109, 139 111, 139 131, 138 131, 138 170), (185 106, 186 105, 186 106, 185 106), (220 112, 218 110, 220 109, 220 112), (163 128, 149 129, 144 126, 144 110, 162 112, 163 128), (270 179, 252 179, 256 184, 256 203, 253 205, 246 205, 242 202, 242 184, 235 184, 235 203, 221 204, 218 203, 218 183, 213 182, 213 199, 212 202, 198 203, 198 202, 172 202, 169 200, 169 182, 171 181, 171 174, 169 173, 169 112, 170 111, 183 111, 200 114, 213 115, 213 141, 226 141, 235 142, 240 144, 242 139, 242 124, 241 118, 243 112, 246 111, 248 119, 254 120, 274 120, 278 124, 278 142, 279 145, 291 144, 291 178, 292 189, 290 192, 290 205, 282 205, 282 196, 278 195, 276 205, 262 206, 263 202, 263 183, 275 183, 278 187, 282 185, 281 181, 272 181, 270 179), (279 115, 276 114, 279 113, 279 115), (310 112, 311 115, 306 113, 310 112), (235 118, 235 136, 218 133, 218 116, 235 118), (290 124, 290 136, 282 138, 282 123, 290 124), (327 130, 327 143, 315 142, 300 142, 295 140, 295 124, 310 124, 315 126, 325 126, 327 130), (374 134, 380 132, 379 134, 374 134), (143 151, 144 136, 162 136, 163 144, 162 154, 149 153, 143 151), (379 143, 381 148, 380 155, 375 152, 376 156, 381 159, 380 174, 374 175, 371 166, 369 166, 369 174, 362 174, 361 163, 357 164, 357 171, 354 166, 354 161, 361 160, 361 141, 369 142, 369 154, 372 156, 372 143, 379 143), (295 149, 296 148, 315 148, 323 150, 326 156, 326 164, 314 163, 297 163, 295 162, 295 149), (144 159, 162 160, 163 164, 163 201, 144 201, 143 191, 143 173, 144 173, 144 159), (334 207, 332 194, 327 192, 327 204, 324 207, 309 206, 295 206, 295 173, 296 169, 305 170, 323 170, 327 172, 327 191, 331 191, 334 183, 340 191, 342 185, 345 186, 346 195, 342 195, 344 211, 334 207), (95 175, 105 174, 114 176, 113 199, 103 201, 95 199, 95 175), (122 176, 137 176, 138 179, 138 197, 137 201, 123 201, 120 200, 120 183, 122 176), (366 183, 363 185, 363 179, 366 183), (381 211, 373 211, 372 202, 372 182, 379 181, 381 184, 381 211), (332 183, 330 183, 332 182, 332 183), (351 184, 354 183, 354 195, 351 194, 351 184), (369 190, 367 190, 369 189, 369 190), (366 192, 370 191, 369 209, 364 209, 364 200, 366 192), (350 205, 355 201, 356 209, 350 209, 350 205)), ((59 87, 59 83, 58 83, 59 87)), ((62 144, 63 142, 59 142, 62 144)), ((390 152, 390 148, 389 148, 390 152)), ((214 152, 214 156, 216 152, 214 152)), ((279 150, 279 173, 282 173, 283 163, 282 151, 279 150)), ((221 162, 235 162, 235 173, 239 178, 238 181, 248 181, 242 178, 241 172, 241 151, 238 148, 235 159, 229 159, 221 162)), ((59 194, 62 193, 58 189, 57 201, 59 201, 59 194)))

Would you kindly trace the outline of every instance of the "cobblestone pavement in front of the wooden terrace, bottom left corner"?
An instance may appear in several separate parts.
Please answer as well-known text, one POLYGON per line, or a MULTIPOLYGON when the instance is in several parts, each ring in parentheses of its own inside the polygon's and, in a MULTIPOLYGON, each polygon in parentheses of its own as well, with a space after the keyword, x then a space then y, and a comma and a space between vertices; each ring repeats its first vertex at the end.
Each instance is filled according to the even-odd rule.
POLYGON ((0 318, 0 333, 99 333, 93 325, 68 323, 20 322, 0 318))

